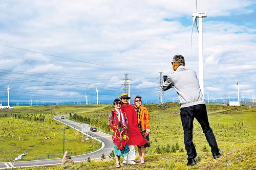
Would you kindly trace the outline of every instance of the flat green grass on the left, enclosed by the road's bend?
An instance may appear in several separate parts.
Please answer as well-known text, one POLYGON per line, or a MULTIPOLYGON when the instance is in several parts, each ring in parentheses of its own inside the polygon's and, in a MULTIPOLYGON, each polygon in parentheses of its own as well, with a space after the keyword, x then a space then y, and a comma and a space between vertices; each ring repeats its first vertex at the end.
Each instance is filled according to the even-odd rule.
POLYGON ((81 142, 82 135, 79 132, 63 126, 51 117, 45 123, 1 117, 0 127, 0 162, 12 161, 17 154, 25 151, 28 154, 24 160, 62 157, 63 128, 65 128, 65 151, 70 154, 89 153, 101 147, 101 144, 93 139, 81 142))

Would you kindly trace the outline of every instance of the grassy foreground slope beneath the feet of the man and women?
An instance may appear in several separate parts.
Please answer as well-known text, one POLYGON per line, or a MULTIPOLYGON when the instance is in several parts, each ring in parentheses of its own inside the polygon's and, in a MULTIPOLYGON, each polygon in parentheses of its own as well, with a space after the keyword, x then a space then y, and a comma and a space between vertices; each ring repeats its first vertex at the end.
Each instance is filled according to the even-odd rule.
POLYGON ((197 164, 195 166, 186 166, 186 154, 185 153, 170 153, 170 154, 154 154, 146 155, 145 164, 136 165, 124 165, 123 168, 115 168, 115 161, 106 162, 82 162, 75 165, 64 165, 64 166, 49 166, 49 167, 30 167, 23 168, 25 170, 58 170, 58 169, 255 169, 255 148, 256 144, 251 143, 245 145, 239 149, 228 149, 222 153, 222 156, 218 159, 213 159, 209 152, 202 153, 198 156, 197 164))

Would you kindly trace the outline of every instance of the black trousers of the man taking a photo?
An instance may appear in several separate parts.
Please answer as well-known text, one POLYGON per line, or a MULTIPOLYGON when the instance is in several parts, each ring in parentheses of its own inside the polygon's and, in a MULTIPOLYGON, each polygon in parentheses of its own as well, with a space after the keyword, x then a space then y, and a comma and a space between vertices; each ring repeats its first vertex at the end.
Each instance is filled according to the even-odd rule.
POLYGON ((180 117, 184 131, 184 143, 188 160, 197 156, 197 151, 193 143, 193 120, 196 118, 202 127, 206 140, 209 143, 212 154, 219 154, 218 144, 214 132, 209 126, 205 104, 199 104, 180 109, 180 117))

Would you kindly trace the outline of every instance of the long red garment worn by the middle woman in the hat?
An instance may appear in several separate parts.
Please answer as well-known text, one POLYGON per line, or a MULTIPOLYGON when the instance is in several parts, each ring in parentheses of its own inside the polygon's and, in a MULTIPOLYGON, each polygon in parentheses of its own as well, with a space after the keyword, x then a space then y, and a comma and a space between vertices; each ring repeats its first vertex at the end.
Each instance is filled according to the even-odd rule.
POLYGON ((138 127, 137 113, 134 107, 130 104, 122 105, 121 110, 126 113, 129 125, 128 125, 128 145, 138 145, 139 147, 146 144, 146 140, 142 137, 140 129, 138 127))

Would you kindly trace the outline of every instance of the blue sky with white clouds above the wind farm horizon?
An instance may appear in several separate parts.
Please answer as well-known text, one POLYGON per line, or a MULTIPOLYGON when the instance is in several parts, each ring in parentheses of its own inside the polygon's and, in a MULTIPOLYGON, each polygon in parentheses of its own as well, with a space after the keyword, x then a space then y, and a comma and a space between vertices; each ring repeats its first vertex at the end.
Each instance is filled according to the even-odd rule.
MULTIPOLYGON (((251 98, 256 89, 256 4, 252 0, 202 1, 205 95, 251 98)), ((190 48, 194 1, 2 1, 0 100, 91 103, 123 92, 158 99, 159 71, 172 72, 175 54, 198 71, 198 33, 190 48)), ((177 100, 174 89, 165 100, 177 100)))

